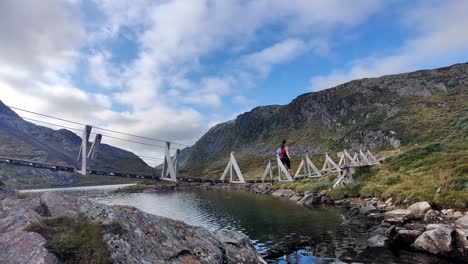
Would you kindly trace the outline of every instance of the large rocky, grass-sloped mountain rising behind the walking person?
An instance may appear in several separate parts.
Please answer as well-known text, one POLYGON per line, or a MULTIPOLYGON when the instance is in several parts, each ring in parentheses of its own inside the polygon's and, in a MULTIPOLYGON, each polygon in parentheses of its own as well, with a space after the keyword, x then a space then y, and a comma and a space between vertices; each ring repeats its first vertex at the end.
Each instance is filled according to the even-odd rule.
MULTIPOLYGON (((411 169, 428 173, 439 164, 432 160, 432 166, 430 159, 442 160, 457 153, 457 157, 451 157, 458 160, 455 167, 450 166, 454 163, 450 160, 444 162, 447 166, 437 169, 449 175, 448 181, 457 178, 461 183, 454 185, 463 190, 463 182, 468 182, 467 91, 468 63, 463 63, 355 80, 300 95, 287 105, 257 107, 214 126, 194 146, 185 149, 183 172, 218 178, 229 153, 235 151, 244 176, 259 178, 267 160, 274 159, 281 140, 288 139, 293 169, 306 153, 314 156, 345 148, 369 148, 381 155, 397 156, 390 159, 393 162, 408 151, 415 152, 407 159, 428 164, 418 167, 412 161, 401 160, 407 164, 388 172, 393 176, 414 175, 417 173, 406 171, 410 165, 414 167, 411 169), (424 149, 426 145, 432 146, 433 151, 424 149), (403 171, 398 172, 399 169, 403 171)), ((320 161, 317 156, 314 162, 320 161)), ((438 188, 435 186, 440 187, 438 180, 431 191, 438 188)))

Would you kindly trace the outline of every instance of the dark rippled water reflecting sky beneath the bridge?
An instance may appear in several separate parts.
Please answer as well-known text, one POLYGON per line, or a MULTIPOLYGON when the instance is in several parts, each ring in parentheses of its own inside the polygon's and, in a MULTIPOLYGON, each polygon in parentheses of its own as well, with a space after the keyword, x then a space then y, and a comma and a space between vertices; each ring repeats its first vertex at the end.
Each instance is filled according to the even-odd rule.
POLYGON ((95 199, 209 230, 241 231, 269 263, 442 263, 424 254, 367 248, 366 230, 341 225, 345 211, 338 207, 307 209, 286 199, 227 190, 112 194, 95 199))

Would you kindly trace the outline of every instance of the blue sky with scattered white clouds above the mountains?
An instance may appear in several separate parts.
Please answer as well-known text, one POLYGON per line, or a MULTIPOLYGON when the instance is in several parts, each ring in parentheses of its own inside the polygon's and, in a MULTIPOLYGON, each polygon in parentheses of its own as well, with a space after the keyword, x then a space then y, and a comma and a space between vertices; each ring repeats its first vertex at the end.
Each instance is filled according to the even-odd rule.
POLYGON ((191 145, 256 106, 467 62, 467 13, 468 0, 2 0, 0 100, 191 145))

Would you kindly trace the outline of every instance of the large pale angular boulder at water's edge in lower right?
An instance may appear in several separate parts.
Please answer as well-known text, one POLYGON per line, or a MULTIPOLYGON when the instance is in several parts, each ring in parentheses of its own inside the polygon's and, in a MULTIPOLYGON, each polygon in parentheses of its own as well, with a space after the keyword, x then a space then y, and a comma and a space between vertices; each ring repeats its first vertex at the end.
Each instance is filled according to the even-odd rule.
POLYGON ((453 251, 452 228, 437 228, 424 232, 419 236, 414 245, 432 254, 447 255, 453 251))

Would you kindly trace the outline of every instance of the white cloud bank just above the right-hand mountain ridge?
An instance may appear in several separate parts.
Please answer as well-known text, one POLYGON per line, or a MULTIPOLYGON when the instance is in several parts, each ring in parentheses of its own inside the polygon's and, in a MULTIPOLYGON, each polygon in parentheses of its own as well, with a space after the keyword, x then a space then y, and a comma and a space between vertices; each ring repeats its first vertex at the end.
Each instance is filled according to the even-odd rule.
POLYGON ((444 1, 409 10, 403 23, 418 32, 397 52, 363 58, 355 61, 349 70, 312 77, 311 89, 322 90, 354 79, 412 71, 427 65, 445 66, 460 55, 468 57, 468 34, 464 34, 468 25, 467 12, 467 1, 444 1))

